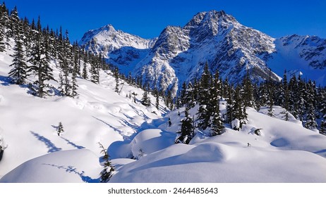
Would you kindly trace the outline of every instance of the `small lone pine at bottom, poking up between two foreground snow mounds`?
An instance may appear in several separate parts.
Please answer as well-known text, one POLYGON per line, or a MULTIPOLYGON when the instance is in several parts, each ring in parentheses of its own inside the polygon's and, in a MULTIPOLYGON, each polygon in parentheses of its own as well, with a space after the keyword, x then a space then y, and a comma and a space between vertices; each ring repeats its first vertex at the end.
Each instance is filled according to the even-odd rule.
POLYGON ((111 164, 109 160, 109 154, 107 153, 107 150, 105 150, 104 146, 99 143, 99 148, 101 148, 101 153, 103 154, 102 159, 104 160, 104 169, 99 173, 100 174, 100 182, 106 183, 109 182, 112 175, 114 174, 114 166, 111 164))

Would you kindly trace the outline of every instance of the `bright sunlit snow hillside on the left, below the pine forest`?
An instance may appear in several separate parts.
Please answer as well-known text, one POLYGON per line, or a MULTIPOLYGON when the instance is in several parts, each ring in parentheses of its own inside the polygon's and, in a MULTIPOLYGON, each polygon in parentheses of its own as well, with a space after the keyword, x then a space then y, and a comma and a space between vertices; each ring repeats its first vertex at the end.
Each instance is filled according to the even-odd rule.
MULTIPOLYGON (((10 49, 0 53, 0 139, 1 146, 5 148, 0 161, 0 178, 28 160, 48 155, 17 168, 19 174, 30 173, 30 178, 28 175, 19 179, 7 177, 1 179, 1 182, 84 182, 82 176, 78 178, 78 174, 66 171, 71 166, 77 167, 76 172, 85 171, 85 176, 98 179, 100 170, 97 165, 102 154, 97 143, 100 142, 107 148, 116 141, 128 141, 141 125, 162 115, 154 106, 146 108, 140 104, 143 91, 126 82, 123 87, 120 85, 121 94, 117 94, 114 91, 115 79, 110 72, 100 72, 100 84, 78 78, 76 98, 32 96, 28 94, 27 87, 9 83, 7 76, 11 70, 8 66, 12 61, 9 56, 11 53, 10 49), (133 92, 137 94, 136 103, 133 98, 126 97, 133 92), (56 133, 59 122, 64 125, 61 136, 56 133), (75 151, 54 154, 68 150, 75 151), (73 156, 75 154, 79 156, 73 156), (71 155, 71 160, 66 160, 68 155, 71 155), (87 162, 90 166, 81 164, 88 159, 92 159, 87 162), (49 160, 49 165, 42 166, 44 160, 49 160), (76 163, 80 165, 75 165, 76 163), (58 177, 32 176, 39 167, 49 171, 53 169, 58 177), (56 173, 57 170, 61 170, 67 177, 56 173), (75 177, 69 178, 70 176, 75 177)), ((54 77, 58 78, 59 70, 54 63, 51 65, 54 77)), ((58 86, 57 82, 52 81, 51 84, 58 86)), ((155 101, 154 97, 152 101, 155 101)))

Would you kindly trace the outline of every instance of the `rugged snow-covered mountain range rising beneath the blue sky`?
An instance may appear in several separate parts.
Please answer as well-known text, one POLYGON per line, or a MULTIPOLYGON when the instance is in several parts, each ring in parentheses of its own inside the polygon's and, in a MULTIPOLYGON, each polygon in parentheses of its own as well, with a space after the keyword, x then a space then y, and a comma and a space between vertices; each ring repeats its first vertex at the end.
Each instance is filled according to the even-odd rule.
POLYGON ((247 72, 253 82, 291 75, 326 85, 326 39, 291 35, 274 39, 241 25, 224 11, 195 15, 184 27, 166 27, 158 38, 143 39, 107 25, 86 32, 80 46, 142 77, 143 83, 174 94, 183 82, 200 77, 205 63, 229 82, 241 82, 247 72), (272 70, 272 72, 270 72, 272 70))

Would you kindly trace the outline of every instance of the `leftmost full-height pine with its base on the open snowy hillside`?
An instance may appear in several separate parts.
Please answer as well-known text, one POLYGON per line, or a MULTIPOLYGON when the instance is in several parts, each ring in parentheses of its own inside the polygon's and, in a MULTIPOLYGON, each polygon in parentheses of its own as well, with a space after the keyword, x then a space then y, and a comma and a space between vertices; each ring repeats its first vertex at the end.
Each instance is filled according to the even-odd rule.
POLYGON ((15 84, 25 84, 27 78, 27 64, 25 60, 25 54, 23 50, 23 43, 20 40, 20 36, 16 36, 15 51, 13 53, 13 63, 10 66, 13 66, 13 69, 8 73, 10 77, 13 78, 13 83, 15 84))

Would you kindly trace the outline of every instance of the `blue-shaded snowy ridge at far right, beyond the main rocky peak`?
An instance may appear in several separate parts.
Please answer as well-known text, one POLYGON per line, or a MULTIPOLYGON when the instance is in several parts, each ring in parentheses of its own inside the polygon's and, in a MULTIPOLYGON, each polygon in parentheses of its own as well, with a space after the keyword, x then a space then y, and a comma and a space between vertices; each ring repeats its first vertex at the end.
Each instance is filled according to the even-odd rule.
POLYGON ((275 40, 276 53, 267 65, 282 75, 284 70, 303 79, 326 85, 326 39, 291 35, 275 40))

